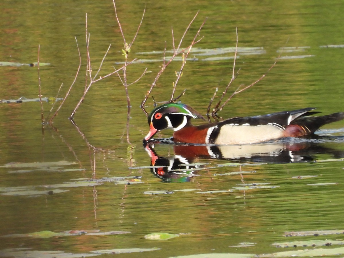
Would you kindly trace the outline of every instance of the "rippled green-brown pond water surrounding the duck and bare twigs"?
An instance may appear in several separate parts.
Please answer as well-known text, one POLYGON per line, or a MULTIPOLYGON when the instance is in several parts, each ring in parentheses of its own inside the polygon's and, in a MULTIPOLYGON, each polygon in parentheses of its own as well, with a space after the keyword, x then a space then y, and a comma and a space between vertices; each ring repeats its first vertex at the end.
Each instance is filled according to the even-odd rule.
MULTIPOLYGON (((85 88, 86 13, 93 74, 110 44, 99 75, 124 62, 112 1, 0 3, 0 99, 10 102, 0 104, 0 256, 343 255, 344 121, 312 139, 208 152, 163 143, 144 148, 149 127, 140 109, 165 46, 171 56, 171 28, 179 42, 200 10, 182 44, 191 43, 207 17, 176 87, 176 96, 186 89, 183 103, 205 115, 215 89, 224 90, 238 27, 240 71, 229 94, 281 56, 220 116, 343 111, 343 1, 127 0, 116 6, 127 42, 146 7, 129 53, 138 61, 127 68, 128 82, 145 68, 149 73, 129 87, 128 124, 125 89, 115 74, 92 85, 73 125, 68 117, 85 88), (58 97, 64 98, 79 65, 74 37, 80 73, 53 124, 42 129, 39 102, 11 101, 39 95, 37 66, 20 64, 37 62, 40 45, 40 62, 47 64, 40 67, 41 94, 56 97, 63 83, 58 97)), ((173 61, 159 78, 151 93, 157 103, 170 99, 180 66, 181 59, 173 61)), ((44 117, 52 116, 51 107, 43 103, 44 117)), ((145 108, 153 107, 149 98, 145 108)), ((165 130, 158 138, 171 135, 165 130)))

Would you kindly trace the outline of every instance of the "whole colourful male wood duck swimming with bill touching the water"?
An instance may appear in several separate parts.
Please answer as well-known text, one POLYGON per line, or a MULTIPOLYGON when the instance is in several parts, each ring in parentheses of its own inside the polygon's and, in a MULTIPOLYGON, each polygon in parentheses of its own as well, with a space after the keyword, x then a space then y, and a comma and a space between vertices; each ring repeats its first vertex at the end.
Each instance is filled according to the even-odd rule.
POLYGON ((276 112, 253 117, 234 117, 222 122, 200 126, 191 124, 192 118, 203 118, 193 108, 181 103, 167 103, 155 108, 148 116, 150 131, 147 142, 160 130, 170 128, 174 142, 193 144, 248 144, 283 137, 300 137, 314 133, 321 126, 340 121, 343 112, 309 117, 319 112, 315 108, 276 112))

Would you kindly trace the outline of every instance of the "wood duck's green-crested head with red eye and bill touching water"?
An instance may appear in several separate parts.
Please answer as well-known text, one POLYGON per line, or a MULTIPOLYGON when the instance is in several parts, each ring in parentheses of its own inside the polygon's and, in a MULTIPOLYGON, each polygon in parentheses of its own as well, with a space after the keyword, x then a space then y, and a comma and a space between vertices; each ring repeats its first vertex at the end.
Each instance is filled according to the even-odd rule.
POLYGON ((160 130, 171 128, 178 131, 186 126, 191 118, 197 117, 203 118, 196 110, 181 103, 166 103, 154 108, 148 116, 150 130, 143 143, 146 144, 160 130))

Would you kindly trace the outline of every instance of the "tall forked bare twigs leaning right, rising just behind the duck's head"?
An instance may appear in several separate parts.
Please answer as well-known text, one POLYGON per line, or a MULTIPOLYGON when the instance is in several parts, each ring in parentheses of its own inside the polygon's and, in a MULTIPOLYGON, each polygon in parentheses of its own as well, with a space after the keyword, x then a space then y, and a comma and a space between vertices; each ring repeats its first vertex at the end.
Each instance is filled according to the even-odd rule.
MULTIPOLYGON (((164 50, 164 60, 163 60, 163 64, 162 64, 162 66, 161 66, 161 69, 160 69, 160 71, 158 72, 157 76, 155 77, 155 79, 154 79, 153 83, 151 84, 149 90, 147 91, 146 96, 144 97, 144 99, 143 99, 142 102, 141 102, 141 109, 142 109, 143 112, 146 114, 146 116, 148 116, 148 112, 144 109, 144 104, 146 103, 146 101, 147 101, 148 97, 150 96, 150 94, 151 94, 151 92, 152 92, 154 86, 157 84, 157 81, 158 81, 159 77, 160 77, 161 74, 165 71, 166 67, 174 60, 174 58, 175 58, 178 54, 184 52, 184 50, 181 50, 181 51, 180 51, 180 46, 181 46, 181 44, 182 44, 182 42, 183 42, 183 40, 184 40, 184 37, 185 37, 187 31, 189 31, 189 29, 190 29, 190 27, 191 27, 191 24, 192 24, 193 21, 196 19, 198 13, 199 13, 199 11, 195 14, 195 16, 193 17, 193 19, 191 20, 191 22, 189 23, 189 25, 188 25, 187 28, 185 29, 185 31, 184 31, 184 33, 183 33, 183 35, 182 35, 182 37, 181 37, 181 39, 180 39, 179 44, 178 44, 177 47, 175 47, 175 39, 174 39, 174 33, 173 33, 173 29, 172 29, 173 55, 172 55, 172 57, 170 58, 170 60, 169 60, 168 62, 165 61, 165 50, 166 50, 166 46, 165 46, 165 50, 164 50)), ((188 49, 188 54, 189 54, 190 51, 191 51, 191 47, 192 47, 193 45, 195 45, 196 43, 198 43, 198 42, 201 40, 201 39, 200 39, 200 40, 195 41, 195 39, 196 39, 196 37, 198 36, 200 30, 202 29, 204 23, 205 23, 205 21, 202 23, 200 29, 197 31, 197 33, 196 33, 196 35, 195 35, 195 37, 194 37, 193 42, 186 48, 186 49, 188 49)), ((185 57, 185 56, 184 56, 184 57, 185 57)), ((182 66, 184 67, 184 65, 185 65, 185 58, 183 58, 183 64, 182 64, 182 66)), ((180 74, 182 74, 182 73, 180 73, 180 74)), ((180 76, 181 76, 181 75, 179 75, 179 78, 177 78, 177 80, 176 80, 177 83, 178 83, 178 80, 180 79, 180 76)), ((176 83, 174 83, 174 87, 175 87, 175 86, 176 86, 176 83)), ((175 89, 174 89, 174 91, 175 91, 175 89)), ((173 94, 174 94, 174 93, 173 93, 173 94)), ((173 97, 172 97, 171 99, 173 99, 173 97)))

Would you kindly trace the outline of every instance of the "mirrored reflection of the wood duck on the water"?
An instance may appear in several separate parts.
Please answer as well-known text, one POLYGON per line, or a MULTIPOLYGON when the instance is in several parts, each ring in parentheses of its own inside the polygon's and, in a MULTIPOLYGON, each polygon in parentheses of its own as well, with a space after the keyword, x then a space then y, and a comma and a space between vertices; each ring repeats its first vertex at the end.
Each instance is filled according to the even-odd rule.
POLYGON ((317 141, 281 141, 243 145, 188 145, 173 143, 174 155, 159 156, 156 143, 170 143, 168 139, 154 140, 145 146, 151 158, 151 172, 164 182, 185 182, 205 168, 207 159, 221 159, 233 163, 296 163, 314 161, 319 154, 343 158, 344 151, 330 149, 317 141), (201 161, 201 162, 200 162, 201 161))

